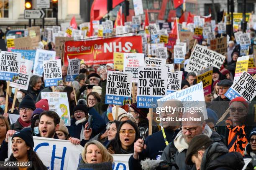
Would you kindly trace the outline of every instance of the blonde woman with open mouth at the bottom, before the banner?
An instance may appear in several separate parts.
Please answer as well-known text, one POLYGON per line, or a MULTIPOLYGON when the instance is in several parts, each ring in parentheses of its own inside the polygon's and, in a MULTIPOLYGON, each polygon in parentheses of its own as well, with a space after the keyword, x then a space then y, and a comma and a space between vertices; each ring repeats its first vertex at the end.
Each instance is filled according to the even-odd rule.
POLYGON ((82 160, 77 170, 112 170, 113 156, 97 140, 92 140, 84 146, 82 160))

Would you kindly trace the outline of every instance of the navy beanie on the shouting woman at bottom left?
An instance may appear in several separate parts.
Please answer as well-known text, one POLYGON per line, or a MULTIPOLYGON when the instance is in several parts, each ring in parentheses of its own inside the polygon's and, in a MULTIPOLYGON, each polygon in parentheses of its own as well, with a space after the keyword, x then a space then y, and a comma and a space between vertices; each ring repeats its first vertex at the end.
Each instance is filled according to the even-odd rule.
POLYGON ((27 146, 30 148, 34 148, 34 140, 33 140, 33 135, 32 135, 32 129, 31 128, 24 128, 23 130, 17 131, 13 134, 12 140, 14 137, 19 137, 23 139, 27 146))

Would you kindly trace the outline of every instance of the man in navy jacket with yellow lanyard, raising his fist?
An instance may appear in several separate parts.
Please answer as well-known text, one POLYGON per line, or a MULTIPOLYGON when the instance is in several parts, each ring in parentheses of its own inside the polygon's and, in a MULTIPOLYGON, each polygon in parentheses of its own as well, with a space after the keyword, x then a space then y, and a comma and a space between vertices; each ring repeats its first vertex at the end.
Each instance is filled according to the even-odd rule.
MULTIPOLYGON (((179 100, 166 101, 161 107, 181 107, 183 108, 182 102, 179 100)), ((157 113, 157 112, 156 112, 157 113)), ((179 133, 180 121, 175 121, 175 117, 181 118, 182 111, 176 112, 160 112, 157 119, 161 120, 162 130, 149 135, 145 141, 138 139, 134 143, 134 153, 129 159, 129 169, 141 170, 140 162, 146 158, 153 160, 159 160, 164 148, 172 143, 177 133, 179 133), (168 118, 174 117, 174 121, 168 121, 168 118), (145 145, 144 145, 145 143, 145 145)))

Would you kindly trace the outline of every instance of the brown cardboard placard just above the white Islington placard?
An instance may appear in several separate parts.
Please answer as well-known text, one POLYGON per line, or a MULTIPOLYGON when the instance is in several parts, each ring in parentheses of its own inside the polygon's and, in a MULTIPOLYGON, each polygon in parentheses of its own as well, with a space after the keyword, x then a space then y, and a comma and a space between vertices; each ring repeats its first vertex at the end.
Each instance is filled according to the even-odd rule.
POLYGON ((210 40, 211 50, 216 51, 222 55, 224 55, 227 50, 227 37, 220 37, 214 40, 210 40))

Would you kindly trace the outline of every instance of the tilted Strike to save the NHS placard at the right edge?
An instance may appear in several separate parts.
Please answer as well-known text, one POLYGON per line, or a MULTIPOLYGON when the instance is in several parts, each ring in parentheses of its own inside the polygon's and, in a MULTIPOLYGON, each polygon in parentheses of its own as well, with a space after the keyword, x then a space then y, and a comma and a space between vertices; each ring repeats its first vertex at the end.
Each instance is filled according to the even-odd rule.
POLYGON ((225 96, 229 100, 236 97, 243 97, 246 101, 251 101, 256 95, 256 80, 248 72, 243 72, 237 81, 228 89, 225 96))

